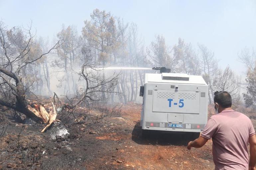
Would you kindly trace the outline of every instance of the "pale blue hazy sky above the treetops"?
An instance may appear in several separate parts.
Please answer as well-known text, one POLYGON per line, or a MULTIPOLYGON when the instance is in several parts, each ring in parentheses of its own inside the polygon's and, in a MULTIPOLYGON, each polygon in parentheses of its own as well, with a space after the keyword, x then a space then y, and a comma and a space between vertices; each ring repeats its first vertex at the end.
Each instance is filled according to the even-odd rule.
POLYGON ((256 0, 0 0, 0 19, 9 27, 26 26, 32 20, 37 35, 51 40, 62 24, 80 31, 96 8, 136 23, 145 45, 157 34, 170 46, 179 37, 194 47, 202 43, 222 68, 230 65, 239 74, 246 70, 237 53, 245 46, 256 48, 256 0))

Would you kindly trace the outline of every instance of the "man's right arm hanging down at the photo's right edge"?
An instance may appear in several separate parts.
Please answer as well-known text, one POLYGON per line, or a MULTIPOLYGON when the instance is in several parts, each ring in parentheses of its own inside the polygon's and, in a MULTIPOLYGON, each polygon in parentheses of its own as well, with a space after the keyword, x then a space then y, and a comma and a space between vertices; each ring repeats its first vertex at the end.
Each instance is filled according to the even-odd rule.
POLYGON ((249 162, 249 170, 255 170, 256 164, 256 137, 255 135, 249 137, 250 143, 250 162, 249 162))

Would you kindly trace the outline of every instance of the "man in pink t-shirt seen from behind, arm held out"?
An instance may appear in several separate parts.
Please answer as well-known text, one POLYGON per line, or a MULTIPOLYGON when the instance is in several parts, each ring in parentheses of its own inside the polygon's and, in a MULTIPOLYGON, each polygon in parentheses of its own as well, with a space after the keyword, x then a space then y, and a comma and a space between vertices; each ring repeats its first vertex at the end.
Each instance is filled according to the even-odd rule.
POLYGON ((198 139, 189 142, 188 149, 202 147, 212 138, 215 170, 256 170, 256 137, 251 120, 232 110, 232 99, 226 91, 214 93, 214 104, 218 114, 208 120, 198 139))

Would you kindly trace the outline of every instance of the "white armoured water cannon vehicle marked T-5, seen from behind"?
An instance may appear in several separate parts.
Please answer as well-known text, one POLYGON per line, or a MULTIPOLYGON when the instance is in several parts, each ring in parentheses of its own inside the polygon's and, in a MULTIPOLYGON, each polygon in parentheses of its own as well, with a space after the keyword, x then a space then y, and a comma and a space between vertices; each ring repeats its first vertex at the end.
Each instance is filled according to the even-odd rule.
POLYGON ((208 85, 202 76, 170 73, 145 74, 141 111, 142 133, 150 130, 200 133, 207 122, 208 85))

